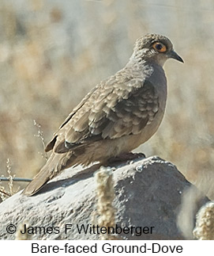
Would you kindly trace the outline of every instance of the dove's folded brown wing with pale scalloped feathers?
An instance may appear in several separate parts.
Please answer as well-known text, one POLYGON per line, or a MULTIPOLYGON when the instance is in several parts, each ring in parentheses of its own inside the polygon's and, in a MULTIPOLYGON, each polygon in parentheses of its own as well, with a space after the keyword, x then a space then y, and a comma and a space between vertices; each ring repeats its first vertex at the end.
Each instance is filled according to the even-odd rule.
POLYGON ((103 84, 62 124, 52 140, 54 151, 64 153, 93 140, 138 134, 158 110, 159 98, 148 80, 103 84))

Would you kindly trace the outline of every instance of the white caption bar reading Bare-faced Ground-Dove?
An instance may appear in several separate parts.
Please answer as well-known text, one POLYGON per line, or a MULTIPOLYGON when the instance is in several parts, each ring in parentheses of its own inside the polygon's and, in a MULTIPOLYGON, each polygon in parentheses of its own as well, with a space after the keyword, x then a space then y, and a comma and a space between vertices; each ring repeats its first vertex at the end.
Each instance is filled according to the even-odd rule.
POLYGON ((15 255, 193 255, 209 253, 213 250, 214 241, 144 241, 144 240, 46 240, 46 241, 8 241, 1 240, 1 254, 15 255))

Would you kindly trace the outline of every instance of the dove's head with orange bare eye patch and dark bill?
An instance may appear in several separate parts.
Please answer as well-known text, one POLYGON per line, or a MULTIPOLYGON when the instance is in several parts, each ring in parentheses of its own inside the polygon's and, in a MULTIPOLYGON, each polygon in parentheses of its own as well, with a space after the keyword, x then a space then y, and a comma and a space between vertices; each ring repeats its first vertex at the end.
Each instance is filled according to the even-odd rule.
POLYGON ((152 61, 163 66, 167 59, 177 59, 183 63, 182 58, 174 51, 171 40, 166 36, 147 34, 137 39, 133 48, 133 58, 141 61, 152 61))

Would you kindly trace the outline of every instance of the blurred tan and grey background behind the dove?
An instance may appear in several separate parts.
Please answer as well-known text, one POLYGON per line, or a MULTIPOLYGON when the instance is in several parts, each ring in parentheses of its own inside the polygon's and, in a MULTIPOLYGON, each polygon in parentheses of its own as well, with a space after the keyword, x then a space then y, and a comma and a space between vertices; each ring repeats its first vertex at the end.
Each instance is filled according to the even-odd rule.
POLYGON ((38 126, 49 142, 81 98, 125 66, 137 37, 148 32, 168 36, 185 63, 165 64, 165 117, 137 151, 174 163, 193 183, 210 180, 212 0, 1 0, 0 175, 10 168, 32 178, 46 161, 38 126))

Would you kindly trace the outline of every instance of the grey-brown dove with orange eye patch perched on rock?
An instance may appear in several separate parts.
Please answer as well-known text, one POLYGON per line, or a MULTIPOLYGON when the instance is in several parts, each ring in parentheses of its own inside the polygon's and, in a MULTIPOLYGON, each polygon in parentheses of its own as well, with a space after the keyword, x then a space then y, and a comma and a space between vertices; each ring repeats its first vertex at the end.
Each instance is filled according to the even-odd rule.
POLYGON ((183 63, 166 36, 139 37, 126 66, 99 82, 54 133, 45 148, 49 159, 23 194, 32 196, 70 166, 107 165, 150 139, 166 107, 167 59, 183 63))

